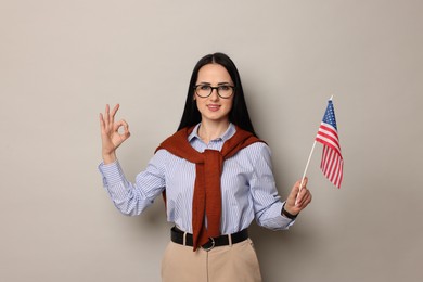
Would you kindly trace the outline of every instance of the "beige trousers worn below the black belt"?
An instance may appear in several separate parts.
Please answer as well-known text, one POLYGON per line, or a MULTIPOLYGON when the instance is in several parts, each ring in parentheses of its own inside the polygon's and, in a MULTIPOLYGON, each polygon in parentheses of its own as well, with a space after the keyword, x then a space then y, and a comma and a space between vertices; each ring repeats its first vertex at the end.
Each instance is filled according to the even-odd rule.
POLYGON ((162 281, 260 282, 261 274, 251 239, 209 252, 170 242, 162 261, 162 281))

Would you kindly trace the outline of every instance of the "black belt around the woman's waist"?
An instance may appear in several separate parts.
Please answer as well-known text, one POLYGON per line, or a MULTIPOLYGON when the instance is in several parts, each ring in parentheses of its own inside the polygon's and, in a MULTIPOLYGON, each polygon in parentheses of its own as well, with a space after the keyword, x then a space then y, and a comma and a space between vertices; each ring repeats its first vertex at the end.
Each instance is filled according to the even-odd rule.
MULTIPOLYGON (((210 251, 215 246, 227 246, 230 243, 236 244, 244 240, 248 239, 248 230, 244 229, 240 232, 229 234, 229 235, 220 235, 217 238, 210 238, 207 243, 202 245, 202 248, 205 251, 210 251)), ((177 227, 172 227, 170 229, 170 240, 177 244, 185 245, 185 246, 193 246, 193 240, 192 234, 184 233, 183 231, 179 230, 177 227), (183 236, 185 235, 185 244, 183 244, 183 236)))

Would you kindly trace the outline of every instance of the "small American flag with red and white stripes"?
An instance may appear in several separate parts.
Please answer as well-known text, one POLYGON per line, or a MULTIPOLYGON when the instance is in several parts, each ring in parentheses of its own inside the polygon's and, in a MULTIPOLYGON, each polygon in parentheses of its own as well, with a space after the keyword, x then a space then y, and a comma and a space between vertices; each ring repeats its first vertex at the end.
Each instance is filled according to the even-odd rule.
POLYGON ((341 188, 343 181, 344 159, 341 153, 339 139, 337 136, 337 127, 335 119, 335 111, 332 100, 328 102, 326 112, 323 120, 320 124, 316 141, 323 144, 322 161, 320 168, 323 175, 335 187, 341 188))

